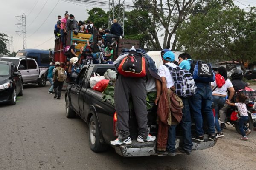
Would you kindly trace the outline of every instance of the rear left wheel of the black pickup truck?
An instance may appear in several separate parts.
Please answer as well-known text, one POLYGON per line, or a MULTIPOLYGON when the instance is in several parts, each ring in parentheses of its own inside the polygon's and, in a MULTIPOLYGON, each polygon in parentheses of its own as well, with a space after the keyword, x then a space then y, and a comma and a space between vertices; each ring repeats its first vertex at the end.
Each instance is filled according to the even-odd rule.
POLYGON ((94 152, 102 152, 107 150, 108 146, 106 144, 102 144, 99 140, 99 127, 97 125, 95 116, 93 115, 90 118, 89 123, 89 143, 90 143, 90 149, 94 152))

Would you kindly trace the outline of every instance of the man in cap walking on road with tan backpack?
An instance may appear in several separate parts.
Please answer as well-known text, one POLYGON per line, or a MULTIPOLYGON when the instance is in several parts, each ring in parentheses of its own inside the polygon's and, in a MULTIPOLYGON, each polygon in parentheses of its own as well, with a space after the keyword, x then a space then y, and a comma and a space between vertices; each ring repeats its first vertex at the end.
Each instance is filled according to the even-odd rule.
POLYGON ((54 99, 61 99, 61 89, 63 87, 64 81, 67 78, 67 72, 64 70, 64 68, 60 67, 60 62, 55 62, 55 68, 52 71, 53 76, 53 90, 55 93, 54 99), (58 91, 57 91, 58 88, 58 91))

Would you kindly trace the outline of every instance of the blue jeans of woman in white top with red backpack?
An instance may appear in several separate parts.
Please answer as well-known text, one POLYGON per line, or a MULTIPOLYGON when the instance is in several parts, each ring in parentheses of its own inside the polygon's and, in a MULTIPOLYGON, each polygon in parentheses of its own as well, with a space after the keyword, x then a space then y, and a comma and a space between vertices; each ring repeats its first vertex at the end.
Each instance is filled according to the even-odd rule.
POLYGON ((215 125, 217 132, 221 133, 221 127, 218 122, 218 114, 219 114, 219 111, 221 110, 221 108, 223 108, 223 106, 225 105, 226 97, 221 97, 221 96, 212 96, 212 97, 213 97, 212 101, 214 102, 214 109, 215 109, 214 125, 215 125))

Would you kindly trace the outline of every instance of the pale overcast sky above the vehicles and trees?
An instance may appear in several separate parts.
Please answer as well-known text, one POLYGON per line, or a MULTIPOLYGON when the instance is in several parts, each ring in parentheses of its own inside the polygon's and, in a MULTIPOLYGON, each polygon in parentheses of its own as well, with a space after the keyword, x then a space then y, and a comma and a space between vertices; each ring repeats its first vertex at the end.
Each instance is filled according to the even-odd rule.
MULTIPOLYGON (((87 9, 90 10, 94 7, 101 7, 105 11, 108 11, 108 6, 97 6, 95 4, 76 5, 64 0, 5 0, 4 3, 3 0, 0 1, 2 2, 0 6, 2 14, 0 33, 14 37, 14 51, 23 49, 22 35, 19 36, 15 32, 22 28, 18 28, 15 25, 16 23, 20 23, 15 16, 22 15, 23 13, 26 14, 27 48, 49 49, 54 48, 53 29, 58 20, 58 15, 64 17, 65 11, 68 11, 69 14, 73 14, 76 17, 76 20, 86 20, 88 17, 87 9), (56 4, 57 6, 55 7, 56 4), (49 17, 47 18, 48 15, 49 17), (39 28, 40 26, 41 28, 39 28)), ((101 0, 99 2, 103 1, 108 2, 108 0, 101 0)), ((246 8, 249 4, 256 6, 256 0, 237 1, 240 3, 235 3, 240 8, 246 8)), ((131 2, 132 0, 125 0, 125 4, 130 5, 131 2)))

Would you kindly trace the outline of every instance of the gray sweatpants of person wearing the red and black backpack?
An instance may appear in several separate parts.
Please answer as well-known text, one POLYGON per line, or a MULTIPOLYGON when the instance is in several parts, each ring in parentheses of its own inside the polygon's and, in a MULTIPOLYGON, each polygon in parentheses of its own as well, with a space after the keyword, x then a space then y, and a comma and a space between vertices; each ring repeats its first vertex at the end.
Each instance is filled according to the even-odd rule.
POLYGON ((143 78, 124 77, 119 74, 115 85, 115 108, 117 113, 118 139, 123 141, 129 133, 129 98, 132 97, 138 124, 138 134, 146 139, 148 136, 148 111, 146 105, 147 91, 143 78))

